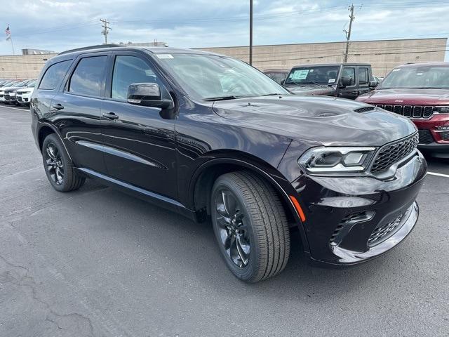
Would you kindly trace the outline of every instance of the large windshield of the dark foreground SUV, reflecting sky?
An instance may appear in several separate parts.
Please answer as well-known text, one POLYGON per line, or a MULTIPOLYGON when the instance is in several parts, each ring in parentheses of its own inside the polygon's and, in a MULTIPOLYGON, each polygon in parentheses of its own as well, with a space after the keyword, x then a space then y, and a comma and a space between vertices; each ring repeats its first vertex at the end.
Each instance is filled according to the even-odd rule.
POLYGON ((156 54, 189 95, 201 100, 287 94, 275 81, 245 62, 217 55, 156 54))

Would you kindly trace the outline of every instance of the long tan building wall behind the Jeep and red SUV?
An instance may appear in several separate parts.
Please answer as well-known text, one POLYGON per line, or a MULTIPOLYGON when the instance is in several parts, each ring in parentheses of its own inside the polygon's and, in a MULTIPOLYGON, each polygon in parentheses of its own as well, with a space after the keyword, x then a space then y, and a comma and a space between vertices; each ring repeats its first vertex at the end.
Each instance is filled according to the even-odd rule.
MULTIPOLYGON (((354 41, 348 62, 367 62, 373 74, 384 77, 392 68, 408 62, 443 62, 447 38, 354 41)), ((199 48, 249 61, 248 46, 199 48)), ((343 62, 346 42, 253 46, 253 66, 260 70, 290 70, 307 63, 343 62)))

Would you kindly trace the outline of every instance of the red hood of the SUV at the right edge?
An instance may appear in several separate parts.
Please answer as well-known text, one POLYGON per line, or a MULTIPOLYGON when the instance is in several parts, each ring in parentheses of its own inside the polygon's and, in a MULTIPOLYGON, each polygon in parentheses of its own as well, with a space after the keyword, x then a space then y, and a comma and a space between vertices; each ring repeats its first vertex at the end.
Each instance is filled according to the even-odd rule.
POLYGON ((360 102, 391 105, 449 105, 446 89, 376 89, 358 96, 360 102))

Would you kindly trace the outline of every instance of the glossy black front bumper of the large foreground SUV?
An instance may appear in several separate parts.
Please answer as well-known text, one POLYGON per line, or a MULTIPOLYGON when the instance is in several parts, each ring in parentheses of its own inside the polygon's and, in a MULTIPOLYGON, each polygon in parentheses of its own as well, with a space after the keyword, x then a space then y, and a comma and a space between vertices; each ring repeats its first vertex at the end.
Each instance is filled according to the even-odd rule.
POLYGON ((302 175, 293 182, 312 260, 351 265, 386 253, 413 230, 427 172, 420 152, 389 180, 302 175), (380 235, 379 233, 383 234, 380 235))

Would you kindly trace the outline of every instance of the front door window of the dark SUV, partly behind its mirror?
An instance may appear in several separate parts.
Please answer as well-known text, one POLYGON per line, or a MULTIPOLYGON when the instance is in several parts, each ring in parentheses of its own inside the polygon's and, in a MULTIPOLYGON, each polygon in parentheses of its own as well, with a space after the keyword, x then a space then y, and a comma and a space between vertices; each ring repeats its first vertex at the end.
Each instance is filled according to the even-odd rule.
POLYGON ((166 90, 152 67, 135 56, 117 55, 112 73, 111 97, 126 100, 128 86, 133 83, 156 83, 161 88, 161 96, 166 97, 166 90))

